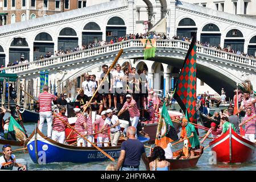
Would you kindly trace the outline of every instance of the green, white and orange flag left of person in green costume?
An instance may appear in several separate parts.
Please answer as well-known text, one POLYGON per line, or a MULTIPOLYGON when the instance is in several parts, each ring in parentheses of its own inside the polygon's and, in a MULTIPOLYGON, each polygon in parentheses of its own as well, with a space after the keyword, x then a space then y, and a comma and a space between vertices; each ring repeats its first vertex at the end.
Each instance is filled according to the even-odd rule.
POLYGON ((164 102, 163 104, 161 115, 164 119, 164 122, 159 136, 157 136, 155 139, 155 144, 156 146, 166 148, 168 143, 177 140, 179 137, 177 135, 174 125, 172 124, 172 120, 166 108, 166 102, 164 102))

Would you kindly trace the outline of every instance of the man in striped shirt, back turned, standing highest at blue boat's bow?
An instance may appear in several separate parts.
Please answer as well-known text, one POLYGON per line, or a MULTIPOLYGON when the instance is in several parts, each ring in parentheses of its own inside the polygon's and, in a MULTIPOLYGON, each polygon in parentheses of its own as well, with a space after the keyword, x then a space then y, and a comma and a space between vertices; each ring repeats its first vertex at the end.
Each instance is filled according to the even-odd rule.
POLYGON ((48 93, 49 86, 43 86, 43 92, 39 94, 39 117, 40 122, 38 129, 42 131, 44 126, 44 120, 47 121, 47 137, 51 138, 52 134, 52 101, 56 101, 57 97, 51 93, 48 93))

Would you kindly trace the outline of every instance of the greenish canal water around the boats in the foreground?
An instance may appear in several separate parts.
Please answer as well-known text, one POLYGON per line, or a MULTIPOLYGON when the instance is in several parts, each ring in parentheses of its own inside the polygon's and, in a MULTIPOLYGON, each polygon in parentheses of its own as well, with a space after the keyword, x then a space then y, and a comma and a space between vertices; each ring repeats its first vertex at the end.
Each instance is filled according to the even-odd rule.
MULTIPOLYGON (((33 123, 26 123, 25 124, 26 130, 28 134, 31 134, 32 131, 35 129, 35 124, 33 123)), ((43 127, 43 133, 47 133, 47 123, 44 123, 43 127)), ((203 136, 205 134, 205 131, 200 130, 199 131, 200 136, 203 136)), ((204 146, 207 146, 209 143, 209 139, 205 140, 204 146)), ((177 144, 172 148, 173 151, 178 150, 182 147, 182 144, 177 144)), ((149 149, 146 148, 147 155, 149 154, 149 149)), ((61 170, 61 171, 104 171, 106 166, 108 164, 117 164, 117 159, 115 162, 112 162, 111 160, 106 160, 104 162, 94 162, 94 163, 84 163, 84 164, 75 164, 75 163, 51 163, 51 164, 35 164, 30 159, 29 154, 23 154, 22 152, 15 153, 17 159, 24 159, 25 163, 27 163, 28 170, 30 171, 40 171, 40 170, 61 170)), ((242 154, 241 154, 242 155, 242 154)), ((209 158, 210 158, 210 148, 208 147, 204 154, 199 159, 199 162, 197 163, 197 166, 194 168, 189 169, 183 169, 183 170, 203 170, 203 171, 224 171, 224 170, 244 170, 244 171, 251 171, 256 170, 256 159, 254 159, 252 162, 248 163, 242 163, 242 164, 224 164, 224 163, 217 163, 217 164, 209 164, 209 158)), ((74 156, 75 157, 75 156, 74 156)), ((144 167, 144 163, 141 160, 140 170, 146 170, 144 167)))

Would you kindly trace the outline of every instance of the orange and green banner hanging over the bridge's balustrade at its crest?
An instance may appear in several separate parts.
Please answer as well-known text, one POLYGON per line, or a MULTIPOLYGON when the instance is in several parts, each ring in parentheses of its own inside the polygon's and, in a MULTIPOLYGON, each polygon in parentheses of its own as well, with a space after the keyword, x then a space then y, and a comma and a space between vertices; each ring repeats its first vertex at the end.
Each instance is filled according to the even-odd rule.
POLYGON ((144 46, 144 59, 155 57, 156 40, 155 39, 141 39, 144 46))

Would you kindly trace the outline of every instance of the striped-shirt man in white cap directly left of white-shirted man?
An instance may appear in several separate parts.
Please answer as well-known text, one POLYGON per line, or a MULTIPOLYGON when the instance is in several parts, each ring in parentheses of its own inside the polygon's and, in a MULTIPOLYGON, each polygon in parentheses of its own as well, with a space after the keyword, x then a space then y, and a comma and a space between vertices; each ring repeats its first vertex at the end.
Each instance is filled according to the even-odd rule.
MULTIPOLYGON (((96 121, 93 123, 93 131, 95 131, 95 126, 97 125, 97 127, 98 127, 97 133, 99 133, 101 130, 101 127, 104 126, 105 119, 106 119, 106 111, 104 110, 101 112, 101 117, 96 119, 96 121)), ((108 130, 107 130, 108 128, 109 127, 106 126, 106 131, 98 134, 98 137, 97 137, 97 146, 98 147, 102 147, 102 143, 104 143, 104 147, 109 146, 109 144, 108 144, 109 136, 107 134, 105 134, 105 133, 108 133, 108 130)))

